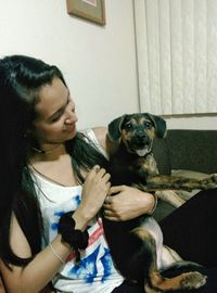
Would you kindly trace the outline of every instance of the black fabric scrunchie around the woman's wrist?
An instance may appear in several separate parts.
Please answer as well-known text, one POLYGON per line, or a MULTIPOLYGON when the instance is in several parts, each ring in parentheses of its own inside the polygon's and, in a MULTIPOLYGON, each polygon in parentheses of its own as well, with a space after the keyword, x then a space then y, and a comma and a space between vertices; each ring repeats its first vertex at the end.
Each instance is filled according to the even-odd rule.
POLYGON ((85 250, 88 246, 88 231, 75 229, 75 220, 72 218, 73 212, 65 213, 59 221, 59 233, 64 242, 68 243, 74 250, 85 250))

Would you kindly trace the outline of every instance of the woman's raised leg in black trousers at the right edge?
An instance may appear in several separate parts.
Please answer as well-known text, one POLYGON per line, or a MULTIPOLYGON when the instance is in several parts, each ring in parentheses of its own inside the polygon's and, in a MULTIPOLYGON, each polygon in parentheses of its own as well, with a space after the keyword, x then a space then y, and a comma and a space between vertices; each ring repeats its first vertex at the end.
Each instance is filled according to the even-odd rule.
POLYGON ((159 226, 164 243, 182 258, 217 266, 217 189, 197 193, 159 226))

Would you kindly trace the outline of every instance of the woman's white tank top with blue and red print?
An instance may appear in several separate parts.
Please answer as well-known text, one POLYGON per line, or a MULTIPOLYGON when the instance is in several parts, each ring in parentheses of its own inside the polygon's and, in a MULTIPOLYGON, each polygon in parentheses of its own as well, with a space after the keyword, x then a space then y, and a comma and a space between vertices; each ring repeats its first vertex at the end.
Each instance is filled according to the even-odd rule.
MULTIPOLYGON (((86 135, 99 146, 91 129, 86 131, 86 135)), ((33 178, 44 222, 46 246, 58 233, 61 215, 75 211, 79 205, 82 187, 62 187, 36 173, 33 178)), ((123 277, 114 267, 100 217, 89 224, 88 232, 88 247, 81 251, 80 263, 76 264, 75 254, 72 252, 53 279, 56 290, 71 293, 111 293, 123 282, 123 277)))

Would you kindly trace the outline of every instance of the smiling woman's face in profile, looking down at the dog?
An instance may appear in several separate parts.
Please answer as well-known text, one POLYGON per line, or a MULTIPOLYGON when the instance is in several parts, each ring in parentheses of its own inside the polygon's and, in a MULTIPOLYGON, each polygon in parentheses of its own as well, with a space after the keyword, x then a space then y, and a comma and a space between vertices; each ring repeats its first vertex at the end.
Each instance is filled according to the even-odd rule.
POLYGON ((75 137, 75 104, 61 79, 54 78, 51 85, 40 89, 35 111, 33 133, 40 146, 63 143, 75 137))

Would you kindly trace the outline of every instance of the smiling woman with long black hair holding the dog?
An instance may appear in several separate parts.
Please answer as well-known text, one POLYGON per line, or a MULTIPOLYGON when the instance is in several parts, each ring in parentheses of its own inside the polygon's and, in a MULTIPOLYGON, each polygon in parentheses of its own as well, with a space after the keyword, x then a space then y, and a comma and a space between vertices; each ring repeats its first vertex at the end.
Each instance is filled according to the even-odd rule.
MULTIPOLYGON (((117 193, 112 207, 105 205, 108 219, 151 214, 153 195, 111 188, 100 167, 106 160, 94 146, 110 152, 106 129, 77 132, 75 104, 58 67, 7 56, 0 61, 0 250, 8 292, 39 292, 51 280, 61 292, 128 292, 98 213, 106 195, 117 193)), ((141 291, 129 285, 129 292, 141 291)))

